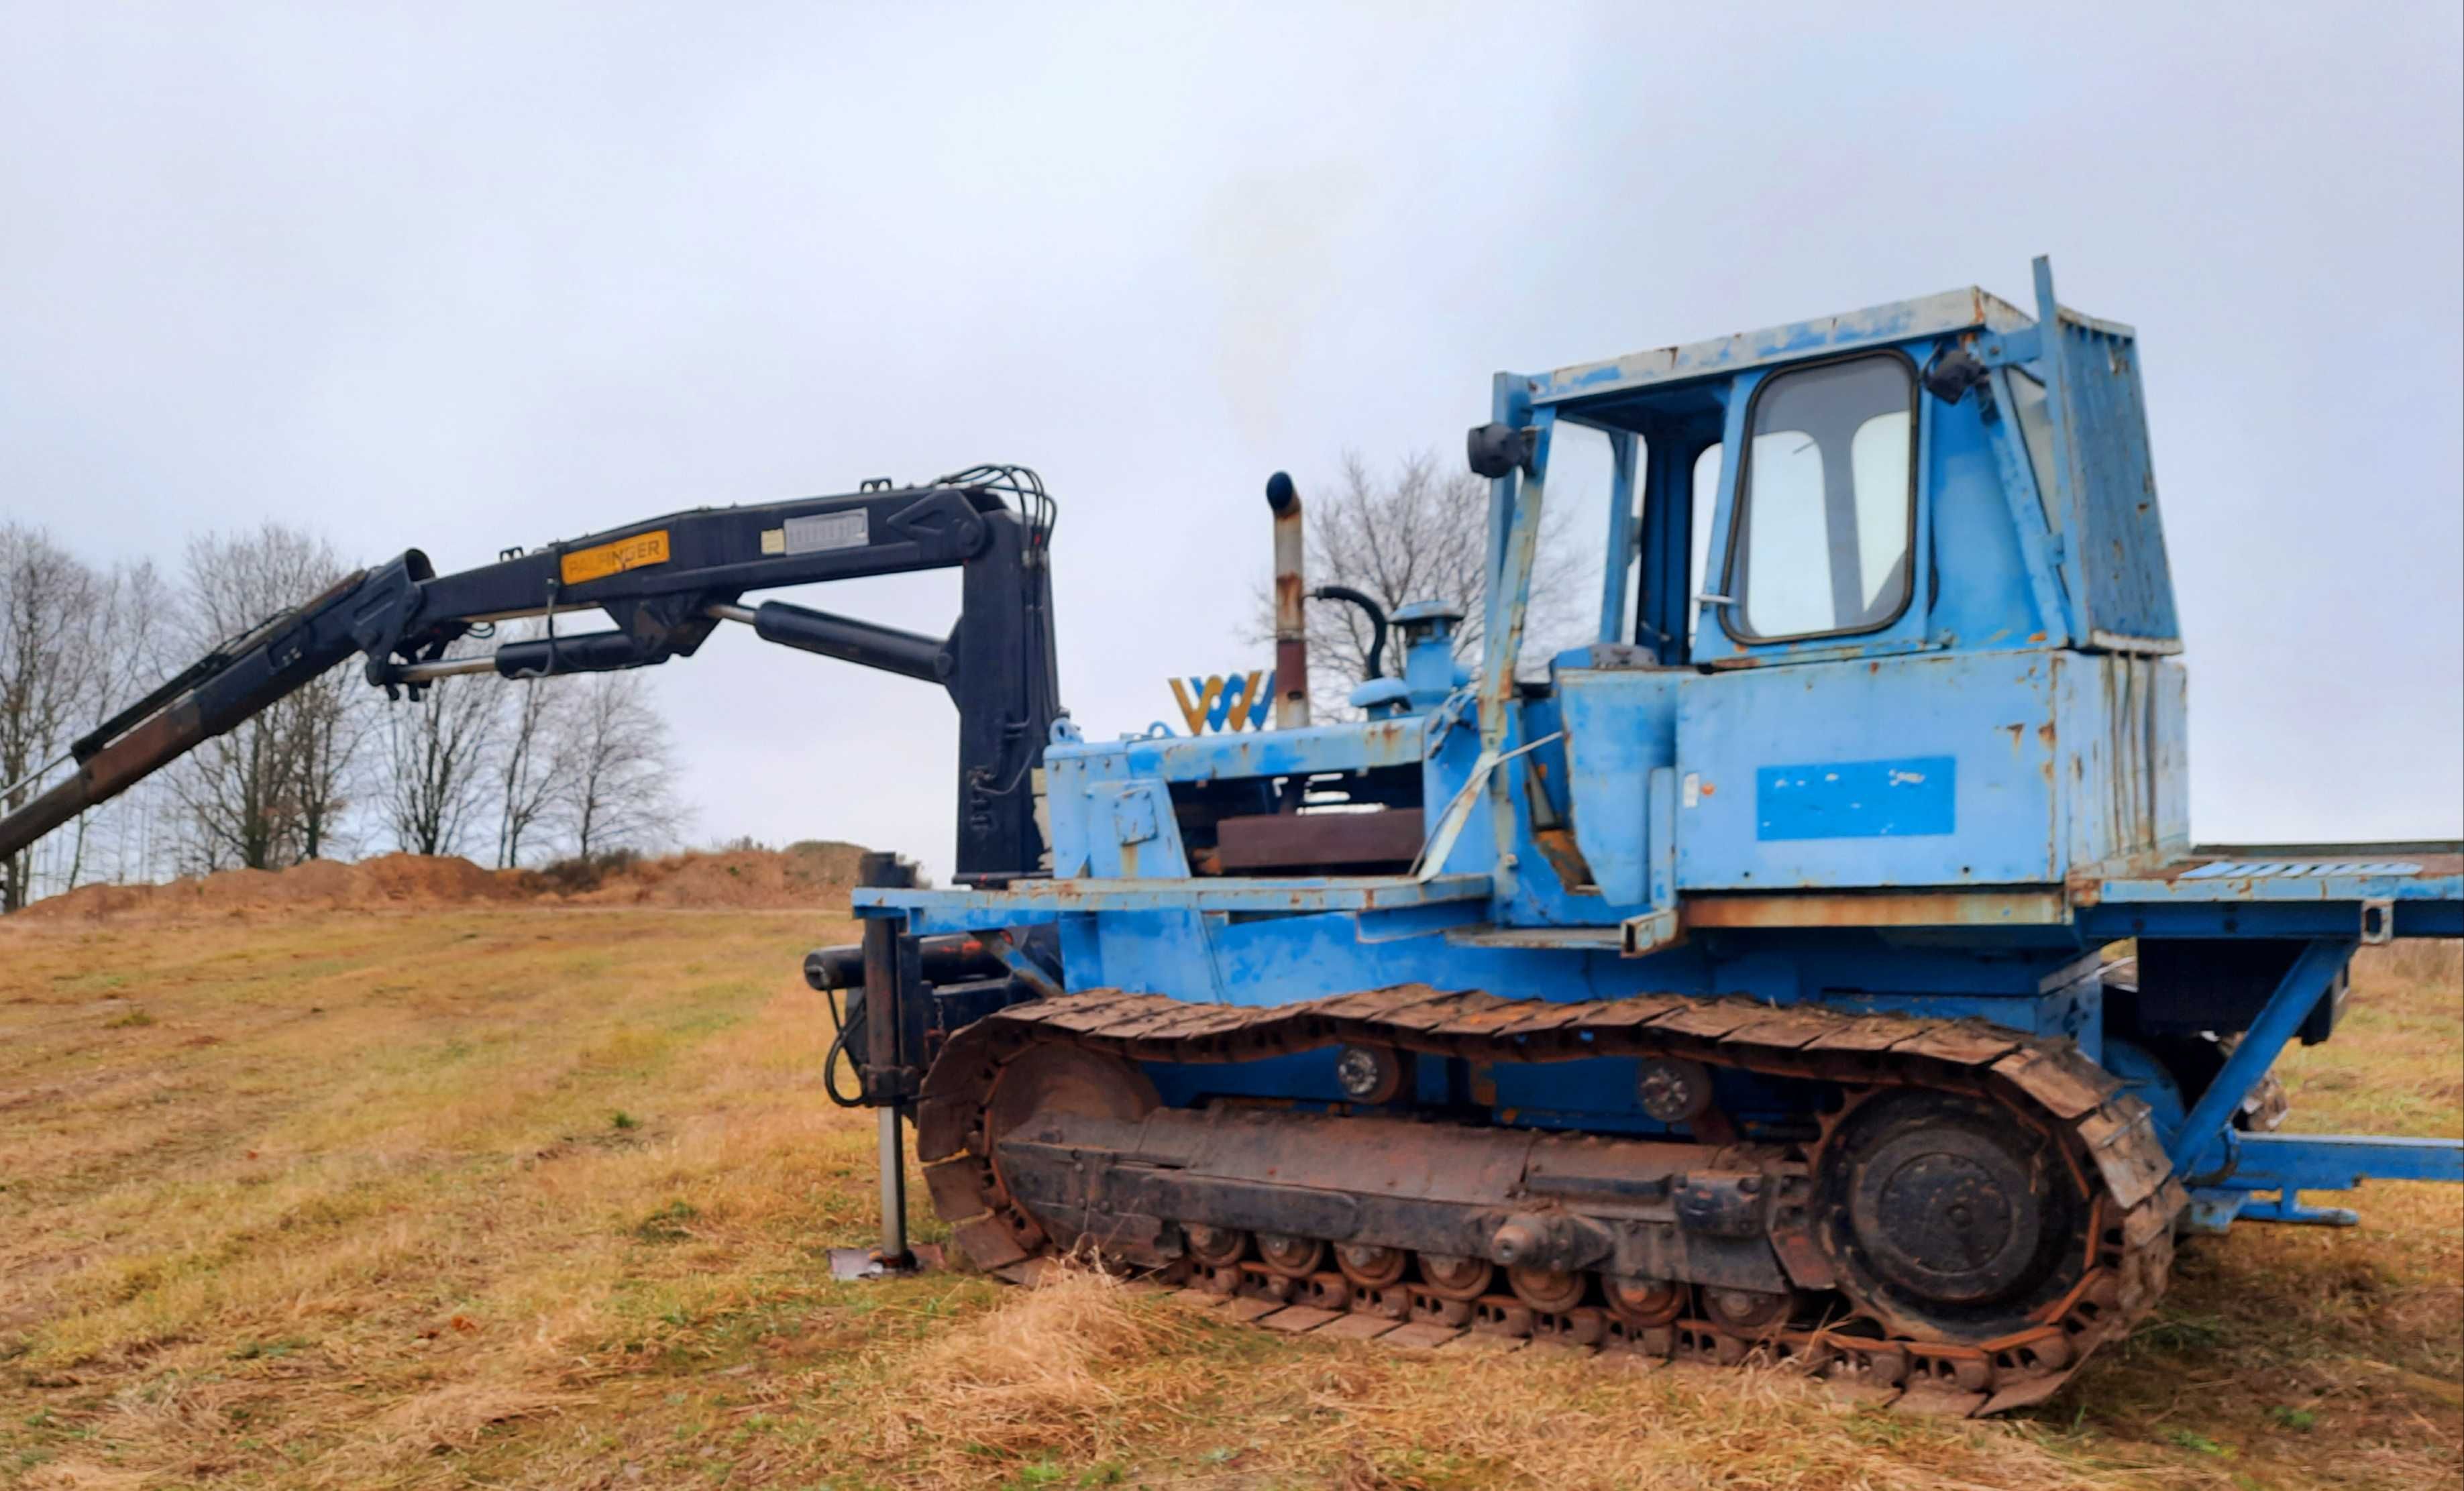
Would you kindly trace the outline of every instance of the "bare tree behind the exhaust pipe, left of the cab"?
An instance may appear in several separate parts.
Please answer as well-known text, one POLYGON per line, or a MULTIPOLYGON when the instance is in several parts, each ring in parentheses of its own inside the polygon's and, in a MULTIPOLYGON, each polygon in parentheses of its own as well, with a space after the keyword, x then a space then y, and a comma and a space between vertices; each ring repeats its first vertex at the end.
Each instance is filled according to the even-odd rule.
MULTIPOLYGON (((1308 522, 1308 587, 1348 584, 1385 611, 1409 601, 1451 601, 1464 611, 1454 633, 1454 656, 1473 665, 1481 656, 1481 601, 1488 594, 1488 483, 1469 471, 1446 471, 1434 451, 1400 461, 1377 473, 1358 451, 1343 453, 1338 481, 1328 490, 1303 488, 1308 522)), ((1582 557, 1565 552, 1557 535, 1565 515, 1542 513, 1542 545, 1533 564, 1528 638, 1560 636, 1582 616, 1597 577, 1584 574, 1582 557)), ((1274 636, 1274 587, 1257 589, 1257 619, 1249 641, 1274 636)), ((1338 710, 1343 697, 1368 678, 1372 631, 1358 606, 1308 604, 1308 680, 1321 712, 1338 710)), ((1523 668, 1535 648, 1525 646, 1523 668)), ((1390 658, 1392 670, 1400 660, 1390 658)))

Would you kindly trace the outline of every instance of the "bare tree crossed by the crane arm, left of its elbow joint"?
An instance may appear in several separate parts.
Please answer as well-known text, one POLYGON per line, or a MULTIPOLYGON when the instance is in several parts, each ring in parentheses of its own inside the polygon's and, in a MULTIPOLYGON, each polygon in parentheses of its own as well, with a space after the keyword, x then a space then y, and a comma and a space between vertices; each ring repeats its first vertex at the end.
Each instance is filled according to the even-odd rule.
MULTIPOLYGON (((205 653, 313 599, 340 574, 323 540, 278 522, 195 537, 180 646, 205 653)), ((367 707, 357 680, 335 668, 197 747, 172 779, 190 818, 192 865, 271 870, 335 850, 367 707)))

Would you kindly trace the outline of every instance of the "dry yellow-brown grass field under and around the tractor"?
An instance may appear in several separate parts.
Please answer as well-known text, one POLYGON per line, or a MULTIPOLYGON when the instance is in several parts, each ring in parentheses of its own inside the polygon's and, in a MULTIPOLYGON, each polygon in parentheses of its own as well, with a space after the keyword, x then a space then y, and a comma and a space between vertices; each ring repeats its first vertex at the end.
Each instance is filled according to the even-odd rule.
MULTIPOLYGON (((2454 1486, 2464 1198, 2195 1245, 2033 1417, 1407 1358, 1101 1279, 835 1284, 872 1200, 779 909, 0 927, 0 1484, 2454 1486)), ((2296 1126, 2457 1134, 2464 966, 2373 956, 2296 1126)), ((929 1235, 929 1230, 926 1230, 929 1235)))

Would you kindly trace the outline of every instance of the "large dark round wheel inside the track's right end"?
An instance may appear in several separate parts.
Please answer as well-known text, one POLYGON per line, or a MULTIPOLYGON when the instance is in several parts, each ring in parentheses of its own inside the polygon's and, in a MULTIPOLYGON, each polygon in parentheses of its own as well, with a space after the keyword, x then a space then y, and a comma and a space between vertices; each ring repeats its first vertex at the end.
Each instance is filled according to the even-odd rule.
POLYGON ((2085 1198, 2050 1144, 1966 1097, 1860 1104, 1823 1146, 1818 1185, 1841 1284, 1902 1331, 2025 1326, 2087 1267, 2085 1198))

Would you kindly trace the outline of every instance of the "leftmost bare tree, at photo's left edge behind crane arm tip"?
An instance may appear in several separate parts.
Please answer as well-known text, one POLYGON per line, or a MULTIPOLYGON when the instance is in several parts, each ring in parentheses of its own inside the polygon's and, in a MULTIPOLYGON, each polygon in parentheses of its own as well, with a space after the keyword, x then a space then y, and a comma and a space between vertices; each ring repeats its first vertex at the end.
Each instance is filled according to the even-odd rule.
MULTIPOLYGON (((39 527, 0 525, 0 808, 101 717, 111 683, 106 582, 39 527)), ((32 900, 32 850, 0 860, 0 912, 32 900)))

